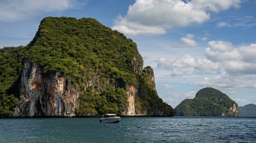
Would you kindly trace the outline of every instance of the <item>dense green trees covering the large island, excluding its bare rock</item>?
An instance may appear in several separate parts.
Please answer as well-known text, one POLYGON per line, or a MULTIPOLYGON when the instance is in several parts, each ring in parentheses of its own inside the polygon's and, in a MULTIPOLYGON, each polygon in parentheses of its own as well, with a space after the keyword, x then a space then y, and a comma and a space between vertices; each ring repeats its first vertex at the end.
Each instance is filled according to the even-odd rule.
POLYGON ((129 85, 139 91, 138 110, 174 115, 173 108, 151 89, 145 70, 141 75, 143 60, 131 39, 92 18, 46 17, 27 46, 0 49, 2 117, 11 117, 18 105, 24 57, 39 65, 46 76, 57 72, 76 90, 79 87, 78 116, 121 114, 128 108, 129 85))

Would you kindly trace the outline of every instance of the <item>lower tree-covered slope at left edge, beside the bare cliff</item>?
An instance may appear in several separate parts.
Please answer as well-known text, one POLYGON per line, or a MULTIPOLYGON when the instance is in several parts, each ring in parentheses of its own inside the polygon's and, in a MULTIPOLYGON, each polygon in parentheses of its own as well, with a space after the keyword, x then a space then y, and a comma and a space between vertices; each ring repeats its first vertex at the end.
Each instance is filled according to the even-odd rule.
POLYGON ((0 117, 12 117, 18 105, 24 46, 0 49, 0 117))

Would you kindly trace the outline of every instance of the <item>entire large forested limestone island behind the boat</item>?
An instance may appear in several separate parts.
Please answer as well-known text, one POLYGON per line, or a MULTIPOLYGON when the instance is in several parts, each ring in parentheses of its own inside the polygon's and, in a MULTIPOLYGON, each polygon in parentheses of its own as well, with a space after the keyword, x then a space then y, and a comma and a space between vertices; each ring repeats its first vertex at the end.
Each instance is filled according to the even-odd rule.
POLYGON ((0 49, 0 117, 175 115, 137 45, 92 18, 46 17, 26 46, 0 49))

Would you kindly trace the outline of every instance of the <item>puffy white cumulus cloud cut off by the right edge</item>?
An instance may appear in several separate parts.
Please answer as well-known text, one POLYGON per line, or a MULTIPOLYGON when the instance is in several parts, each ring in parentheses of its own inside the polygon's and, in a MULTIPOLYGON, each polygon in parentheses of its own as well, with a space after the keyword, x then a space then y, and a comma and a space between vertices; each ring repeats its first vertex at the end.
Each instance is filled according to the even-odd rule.
POLYGON ((256 44, 234 47, 228 41, 210 41, 207 58, 220 62, 229 74, 256 74, 256 44))

